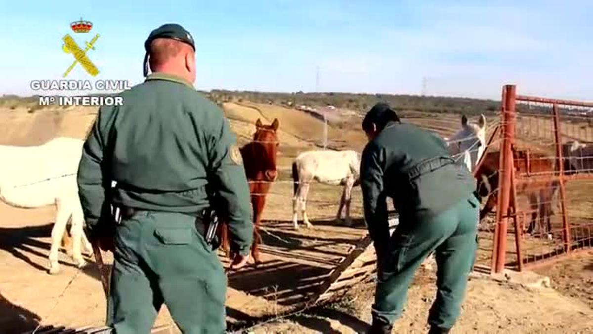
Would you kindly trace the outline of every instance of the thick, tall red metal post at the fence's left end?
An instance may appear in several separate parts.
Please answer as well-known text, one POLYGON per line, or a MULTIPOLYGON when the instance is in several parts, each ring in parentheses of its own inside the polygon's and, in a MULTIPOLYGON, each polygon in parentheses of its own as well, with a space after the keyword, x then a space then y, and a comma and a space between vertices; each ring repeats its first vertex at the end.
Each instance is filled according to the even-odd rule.
POLYGON ((514 168, 512 144, 515 139, 515 85, 505 85, 502 111, 502 147, 500 150, 499 194, 496 207, 496 253, 493 254, 494 272, 505 268, 506 232, 508 226, 509 201, 511 200, 511 177, 514 168))

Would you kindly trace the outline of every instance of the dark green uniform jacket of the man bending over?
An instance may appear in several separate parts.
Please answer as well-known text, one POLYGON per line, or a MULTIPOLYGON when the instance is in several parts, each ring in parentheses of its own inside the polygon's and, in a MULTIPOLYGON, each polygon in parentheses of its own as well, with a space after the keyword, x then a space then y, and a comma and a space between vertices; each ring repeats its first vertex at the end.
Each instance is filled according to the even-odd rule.
POLYGON ((362 152, 361 188, 369 234, 375 248, 382 248, 390 237, 387 197, 400 223, 419 222, 470 196, 476 181, 467 167, 454 163, 438 135, 391 122, 362 152))

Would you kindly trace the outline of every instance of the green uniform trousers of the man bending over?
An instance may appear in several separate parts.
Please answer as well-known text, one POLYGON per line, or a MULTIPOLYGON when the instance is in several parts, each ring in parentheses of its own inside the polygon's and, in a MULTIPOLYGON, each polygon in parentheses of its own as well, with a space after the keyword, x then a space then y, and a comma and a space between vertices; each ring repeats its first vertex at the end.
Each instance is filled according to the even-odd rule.
POLYGON ((438 291, 428 323, 442 328, 454 325, 476 259, 478 212, 479 203, 472 196, 423 221, 400 216, 390 251, 378 265, 374 319, 392 324, 401 316, 416 269, 434 251, 438 291))

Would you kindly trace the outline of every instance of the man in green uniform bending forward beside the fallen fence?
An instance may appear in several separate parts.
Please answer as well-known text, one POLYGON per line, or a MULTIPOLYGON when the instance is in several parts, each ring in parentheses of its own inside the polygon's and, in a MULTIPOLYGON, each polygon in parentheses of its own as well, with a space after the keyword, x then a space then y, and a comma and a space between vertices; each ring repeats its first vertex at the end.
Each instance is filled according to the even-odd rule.
POLYGON ((361 188, 378 266, 369 333, 391 333, 414 272, 433 251, 438 291, 429 333, 448 333, 459 316, 477 246, 473 176, 454 163, 441 138, 400 123, 387 104, 372 107, 362 129, 369 143, 362 152, 361 188), (387 197, 393 198, 400 219, 392 236, 387 197))

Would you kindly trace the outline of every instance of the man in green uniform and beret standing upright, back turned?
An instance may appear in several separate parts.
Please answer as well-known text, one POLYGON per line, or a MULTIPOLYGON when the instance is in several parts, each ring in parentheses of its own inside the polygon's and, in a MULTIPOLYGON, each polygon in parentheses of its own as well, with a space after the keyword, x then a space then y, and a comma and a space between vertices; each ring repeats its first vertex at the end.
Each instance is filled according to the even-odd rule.
POLYGON ((192 86, 192 36, 165 24, 144 46, 152 74, 122 92, 123 106, 100 108, 78 168, 87 235, 114 249, 107 325, 149 333, 166 303, 182 332, 222 333, 227 280, 202 212, 216 195, 232 267, 243 266, 253 224, 241 155, 222 110, 192 86), (122 211, 117 225, 110 204, 122 211))

